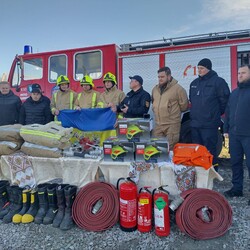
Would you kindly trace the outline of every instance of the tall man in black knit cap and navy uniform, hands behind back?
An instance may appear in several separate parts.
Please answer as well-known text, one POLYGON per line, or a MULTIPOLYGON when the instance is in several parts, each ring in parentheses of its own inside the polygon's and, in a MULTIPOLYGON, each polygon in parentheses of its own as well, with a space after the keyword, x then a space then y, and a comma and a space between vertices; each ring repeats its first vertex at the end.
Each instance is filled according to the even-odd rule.
POLYGON ((212 70, 212 62, 208 58, 199 61, 198 75, 189 89, 192 142, 207 147, 213 155, 213 165, 218 170, 218 128, 230 90, 226 81, 212 70))

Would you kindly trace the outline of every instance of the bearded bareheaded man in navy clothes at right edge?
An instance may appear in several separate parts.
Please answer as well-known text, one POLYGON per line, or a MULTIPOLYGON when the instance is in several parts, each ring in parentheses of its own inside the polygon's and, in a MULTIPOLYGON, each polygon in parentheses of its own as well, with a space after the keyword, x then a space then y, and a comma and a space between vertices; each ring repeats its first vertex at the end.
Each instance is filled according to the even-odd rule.
MULTIPOLYGON (((225 112, 224 136, 229 137, 233 187, 226 197, 243 196, 243 160, 250 174, 250 65, 238 70, 238 87, 229 97, 225 112)), ((250 200, 248 202, 250 205, 250 200)))

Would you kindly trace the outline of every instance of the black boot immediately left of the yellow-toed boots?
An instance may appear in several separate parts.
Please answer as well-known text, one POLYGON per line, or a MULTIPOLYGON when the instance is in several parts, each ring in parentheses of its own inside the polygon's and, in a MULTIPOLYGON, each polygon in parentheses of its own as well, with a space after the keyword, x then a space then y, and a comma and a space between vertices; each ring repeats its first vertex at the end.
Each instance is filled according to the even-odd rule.
POLYGON ((9 188, 10 188, 9 191, 10 207, 9 207, 9 212, 3 217, 4 223, 10 223, 12 221, 12 217, 15 214, 18 214, 23 207, 23 202, 22 202, 23 189, 18 186, 10 186, 9 188))

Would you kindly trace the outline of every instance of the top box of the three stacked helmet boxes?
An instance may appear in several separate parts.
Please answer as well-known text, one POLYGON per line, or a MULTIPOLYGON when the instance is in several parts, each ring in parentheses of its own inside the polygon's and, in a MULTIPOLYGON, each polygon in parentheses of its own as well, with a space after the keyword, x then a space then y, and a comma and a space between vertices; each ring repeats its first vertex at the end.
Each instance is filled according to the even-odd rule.
POLYGON ((120 119, 117 125, 117 137, 131 142, 150 140, 153 119, 120 119))

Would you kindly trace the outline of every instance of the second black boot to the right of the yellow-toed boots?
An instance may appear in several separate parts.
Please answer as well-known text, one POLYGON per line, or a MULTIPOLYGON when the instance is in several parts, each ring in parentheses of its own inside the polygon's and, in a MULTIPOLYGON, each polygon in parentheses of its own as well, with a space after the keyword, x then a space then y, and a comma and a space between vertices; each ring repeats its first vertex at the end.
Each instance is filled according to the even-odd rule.
POLYGON ((43 218, 43 224, 48 225, 52 224, 53 220, 57 214, 58 206, 57 206, 57 197, 56 197, 56 187, 57 183, 50 184, 47 188, 48 192, 48 203, 49 210, 47 211, 45 217, 43 218))

